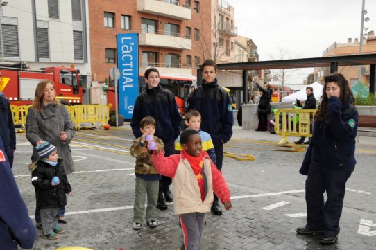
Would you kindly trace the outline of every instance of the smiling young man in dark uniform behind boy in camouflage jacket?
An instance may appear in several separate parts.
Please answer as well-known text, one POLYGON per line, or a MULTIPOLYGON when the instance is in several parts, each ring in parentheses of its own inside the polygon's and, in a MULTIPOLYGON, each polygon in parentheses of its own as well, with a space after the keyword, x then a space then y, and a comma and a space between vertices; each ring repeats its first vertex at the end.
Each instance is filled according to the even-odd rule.
MULTIPOLYGON (((146 69, 145 81, 146 90, 137 96, 133 109, 130 126, 136 138, 142 136, 139 124, 145 116, 155 119, 155 136, 162 139, 166 156, 175 154, 174 143, 180 134, 182 116, 178 109, 173 93, 167 89, 162 89, 160 84, 160 73, 155 68, 146 69)), ((173 202, 173 196, 169 186, 171 178, 164 177, 160 180, 160 190, 158 193, 157 208, 167 209, 166 202, 173 202)))

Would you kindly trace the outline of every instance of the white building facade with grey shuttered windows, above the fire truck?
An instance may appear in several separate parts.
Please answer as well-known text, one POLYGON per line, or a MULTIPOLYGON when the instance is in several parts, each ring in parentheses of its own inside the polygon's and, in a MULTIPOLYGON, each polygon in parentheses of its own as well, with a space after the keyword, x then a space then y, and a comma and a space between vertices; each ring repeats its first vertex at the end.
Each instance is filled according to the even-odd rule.
POLYGON ((33 69, 74 66, 86 82, 91 74, 86 6, 85 0, 12 0, 2 4, 3 62, 26 62, 33 69))

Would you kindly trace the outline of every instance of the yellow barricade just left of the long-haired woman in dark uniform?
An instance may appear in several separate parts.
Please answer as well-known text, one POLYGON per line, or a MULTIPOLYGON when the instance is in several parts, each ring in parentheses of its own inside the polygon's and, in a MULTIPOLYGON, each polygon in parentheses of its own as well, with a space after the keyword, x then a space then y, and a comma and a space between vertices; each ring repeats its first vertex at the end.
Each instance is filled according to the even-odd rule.
POLYGON ((287 144, 287 136, 311 137, 316 109, 279 109, 275 111, 275 132, 282 136, 278 144, 287 144), (282 124, 281 124, 282 122, 282 124))

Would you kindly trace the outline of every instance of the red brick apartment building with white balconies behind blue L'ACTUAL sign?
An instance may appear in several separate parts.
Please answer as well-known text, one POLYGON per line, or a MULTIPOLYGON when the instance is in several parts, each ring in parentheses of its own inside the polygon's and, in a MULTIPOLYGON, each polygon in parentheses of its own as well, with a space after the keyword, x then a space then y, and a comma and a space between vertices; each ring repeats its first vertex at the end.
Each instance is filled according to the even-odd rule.
POLYGON ((205 58, 203 41, 211 0, 89 1, 90 50, 94 78, 104 82, 117 66, 118 33, 139 34, 139 72, 196 75, 205 58))

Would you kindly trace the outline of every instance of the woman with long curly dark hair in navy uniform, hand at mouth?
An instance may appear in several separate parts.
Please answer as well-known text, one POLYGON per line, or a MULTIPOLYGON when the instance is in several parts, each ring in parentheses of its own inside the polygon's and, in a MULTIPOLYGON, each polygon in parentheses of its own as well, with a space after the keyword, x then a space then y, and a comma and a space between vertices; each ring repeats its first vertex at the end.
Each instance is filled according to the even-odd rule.
POLYGON ((323 233, 321 244, 334 244, 339 234, 345 184, 357 163, 354 152, 358 111, 348 81, 340 73, 325 77, 314 120, 314 133, 299 171, 308 175, 307 224, 296 231, 305 235, 323 233))

